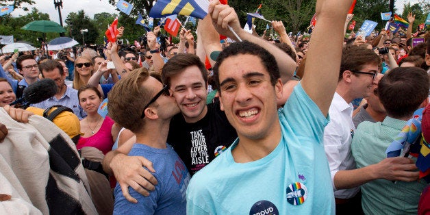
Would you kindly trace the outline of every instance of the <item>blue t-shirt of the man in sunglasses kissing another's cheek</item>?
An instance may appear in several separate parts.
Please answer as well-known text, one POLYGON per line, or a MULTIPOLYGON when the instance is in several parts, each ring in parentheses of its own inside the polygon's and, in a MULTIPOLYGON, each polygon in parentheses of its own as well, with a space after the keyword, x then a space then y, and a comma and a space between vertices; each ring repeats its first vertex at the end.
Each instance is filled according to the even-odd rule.
POLYGON ((134 144, 129 156, 143 156, 151 161, 158 184, 149 197, 129 187, 131 197, 138 200, 136 204, 127 201, 121 187, 116 184, 114 214, 186 214, 186 189, 190 174, 172 147, 167 144, 166 149, 155 149, 134 144))

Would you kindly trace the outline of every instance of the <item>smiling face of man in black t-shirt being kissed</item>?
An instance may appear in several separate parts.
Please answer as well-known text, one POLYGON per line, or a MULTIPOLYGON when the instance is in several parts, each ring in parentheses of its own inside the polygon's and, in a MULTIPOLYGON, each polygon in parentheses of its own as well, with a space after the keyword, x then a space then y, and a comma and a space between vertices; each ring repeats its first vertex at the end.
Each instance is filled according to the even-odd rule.
POLYGON ((172 76, 170 89, 187 123, 195 123, 206 115, 206 84, 198 66, 188 66, 172 76))

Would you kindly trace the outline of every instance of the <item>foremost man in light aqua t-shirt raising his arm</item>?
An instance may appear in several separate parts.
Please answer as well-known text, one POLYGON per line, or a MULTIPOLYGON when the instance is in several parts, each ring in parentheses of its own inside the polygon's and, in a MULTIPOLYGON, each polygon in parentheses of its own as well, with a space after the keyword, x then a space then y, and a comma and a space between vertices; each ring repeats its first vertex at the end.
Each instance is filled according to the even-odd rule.
MULTIPOLYGON (((305 76, 279 111, 279 67, 266 51, 276 47, 235 42, 220 53, 214 66, 216 89, 238 139, 192 177, 187 214, 334 214, 323 132, 351 3, 318 0, 316 40, 305 76)), ((236 38, 220 27, 228 25, 242 40, 252 36, 244 33, 229 5, 211 1, 209 12, 220 34, 236 38)))

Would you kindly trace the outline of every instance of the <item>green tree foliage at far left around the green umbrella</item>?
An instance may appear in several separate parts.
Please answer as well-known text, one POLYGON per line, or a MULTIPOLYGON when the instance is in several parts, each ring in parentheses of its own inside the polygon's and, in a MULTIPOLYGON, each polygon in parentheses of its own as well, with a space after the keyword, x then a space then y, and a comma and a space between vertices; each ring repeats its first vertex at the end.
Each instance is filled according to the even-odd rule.
MULTIPOLYGON (((12 17, 9 15, 2 16, 0 20, 0 32, 2 35, 13 35, 15 41, 27 41, 34 44, 35 47, 40 47, 40 41, 37 38, 42 38, 43 34, 36 31, 27 31, 21 29, 27 23, 38 20, 49 20, 49 14, 40 13, 36 8, 25 16, 12 17)), ((49 41, 60 36, 58 33, 45 34, 45 40, 49 41)))

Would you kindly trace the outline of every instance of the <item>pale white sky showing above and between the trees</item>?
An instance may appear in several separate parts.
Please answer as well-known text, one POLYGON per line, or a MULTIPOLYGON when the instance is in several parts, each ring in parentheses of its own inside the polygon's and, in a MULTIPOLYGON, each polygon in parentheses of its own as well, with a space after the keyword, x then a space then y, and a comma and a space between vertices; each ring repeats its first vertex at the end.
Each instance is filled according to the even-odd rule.
MULTIPOLYGON (((31 10, 31 8, 37 8, 40 12, 49 14, 51 21, 60 23, 58 10, 55 10, 53 0, 34 1, 36 2, 34 5, 23 4, 23 6, 26 6, 29 10, 31 10)), ((418 3, 418 0, 396 0, 395 8, 397 11, 403 12, 403 4, 407 2, 413 5, 414 3, 418 3)), ((94 14, 101 12, 118 14, 119 12, 116 11, 115 8, 115 6, 108 3, 108 0, 63 0, 63 8, 61 10, 62 20, 64 23, 64 20, 70 12, 77 12, 78 10, 84 10, 85 14, 90 16, 90 18, 94 18, 94 14)), ((15 9, 14 12, 12 12, 12 16, 21 16, 25 14, 27 14, 27 12, 22 9, 15 9)))

